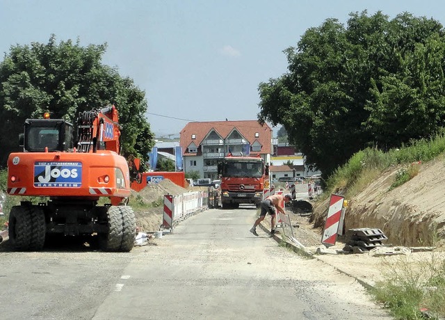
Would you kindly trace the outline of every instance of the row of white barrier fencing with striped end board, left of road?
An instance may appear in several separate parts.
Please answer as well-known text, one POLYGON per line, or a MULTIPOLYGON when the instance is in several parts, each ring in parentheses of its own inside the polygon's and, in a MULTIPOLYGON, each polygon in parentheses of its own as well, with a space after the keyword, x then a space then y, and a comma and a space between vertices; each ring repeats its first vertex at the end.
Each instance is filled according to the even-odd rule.
POLYGON ((218 207, 220 191, 209 187, 206 191, 191 191, 179 195, 164 195, 163 223, 161 230, 173 228, 186 218, 204 210, 218 207))

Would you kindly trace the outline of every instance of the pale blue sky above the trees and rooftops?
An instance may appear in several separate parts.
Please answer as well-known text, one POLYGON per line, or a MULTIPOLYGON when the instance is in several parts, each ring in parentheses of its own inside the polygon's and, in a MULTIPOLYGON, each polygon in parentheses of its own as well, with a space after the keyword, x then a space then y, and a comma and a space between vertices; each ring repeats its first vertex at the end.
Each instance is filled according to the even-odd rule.
POLYGON ((443 0, 0 0, 0 61, 51 34, 107 43, 102 63, 145 92, 154 134, 177 137, 191 121, 257 120, 259 84, 287 71, 283 50, 363 10, 445 25, 443 0))

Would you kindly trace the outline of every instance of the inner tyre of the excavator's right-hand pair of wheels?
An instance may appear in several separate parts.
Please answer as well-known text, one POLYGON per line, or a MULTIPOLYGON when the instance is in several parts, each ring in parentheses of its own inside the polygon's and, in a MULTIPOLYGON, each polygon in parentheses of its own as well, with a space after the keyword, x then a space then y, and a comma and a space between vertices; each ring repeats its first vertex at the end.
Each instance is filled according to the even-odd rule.
POLYGON ((117 206, 106 211, 108 230, 99 235, 99 246, 104 251, 118 251, 122 243, 122 214, 117 206))

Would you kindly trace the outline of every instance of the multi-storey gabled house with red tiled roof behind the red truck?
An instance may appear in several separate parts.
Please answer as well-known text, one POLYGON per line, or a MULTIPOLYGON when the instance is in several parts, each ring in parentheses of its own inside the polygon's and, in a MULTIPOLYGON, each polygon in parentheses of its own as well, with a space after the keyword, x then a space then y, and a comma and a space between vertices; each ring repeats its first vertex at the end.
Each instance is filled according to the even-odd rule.
POLYGON ((188 122, 179 134, 184 172, 218 179, 218 161, 229 153, 260 156, 270 162, 272 129, 257 120, 188 122))

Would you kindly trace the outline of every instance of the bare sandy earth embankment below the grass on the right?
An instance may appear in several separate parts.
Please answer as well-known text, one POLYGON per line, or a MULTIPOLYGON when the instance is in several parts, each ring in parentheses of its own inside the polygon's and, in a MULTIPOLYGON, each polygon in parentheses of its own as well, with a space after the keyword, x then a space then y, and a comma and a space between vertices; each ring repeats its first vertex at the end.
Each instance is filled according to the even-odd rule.
MULTIPOLYGON (((378 228, 394 246, 445 244, 445 162, 422 164, 419 175, 389 191, 397 169, 387 170, 361 193, 346 199, 346 230, 378 228), (437 242, 436 242, 437 241, 437 242)), ((323 227, 329 198, 314 206, 312 221, 323 227)))

